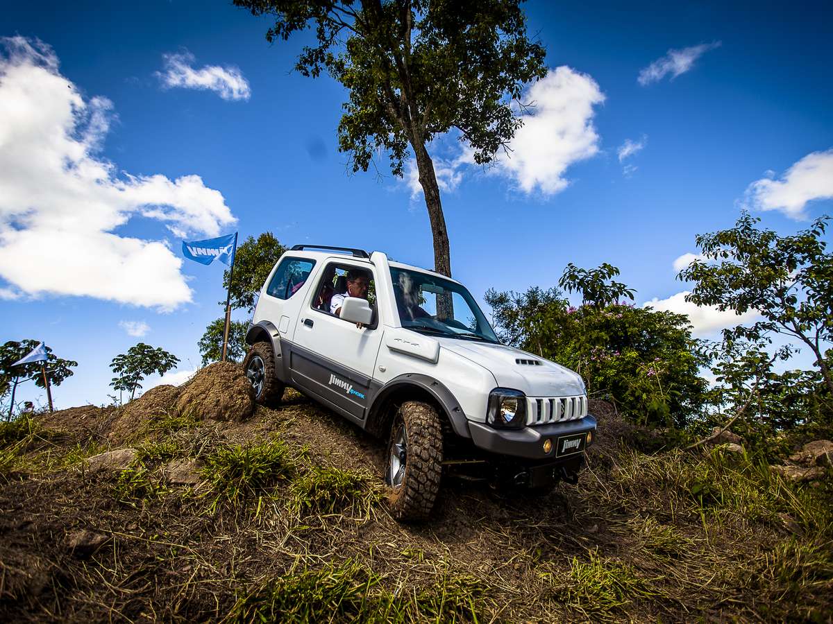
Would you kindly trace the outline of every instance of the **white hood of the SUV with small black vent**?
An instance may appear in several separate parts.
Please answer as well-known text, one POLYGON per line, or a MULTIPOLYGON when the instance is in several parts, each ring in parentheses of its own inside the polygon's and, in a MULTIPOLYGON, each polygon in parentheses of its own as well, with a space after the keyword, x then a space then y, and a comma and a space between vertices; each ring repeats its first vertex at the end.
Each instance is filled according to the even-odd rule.
POLYGON ((501 388, 521 390, 530 397, 565 397, 585 394, 581 377, 548 359, 504 344, 455 338, 438 338, 442 349, 470 359, 491 371, 501 388), (516 360, 541 364, 518 364, 516 360))

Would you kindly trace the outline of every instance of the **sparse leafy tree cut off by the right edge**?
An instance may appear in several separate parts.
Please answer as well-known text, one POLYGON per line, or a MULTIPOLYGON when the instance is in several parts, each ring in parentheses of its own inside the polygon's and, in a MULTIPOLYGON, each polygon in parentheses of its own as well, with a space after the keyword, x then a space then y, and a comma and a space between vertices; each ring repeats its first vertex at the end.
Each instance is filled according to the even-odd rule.
POLYGON ((833 394, 830 351, 824 350, 833 340, 833 254, 821 240, 829 220, 822 216, 807 230, 779 236, 759 230, 760 219, 745 211, 731 230, 698 235, 704 260, 677 278, 695 283, 686 301, 763 317, 751 327, 725 330, 726 339, 771 341, 771 334, 784 334, 806 344, 833 394))

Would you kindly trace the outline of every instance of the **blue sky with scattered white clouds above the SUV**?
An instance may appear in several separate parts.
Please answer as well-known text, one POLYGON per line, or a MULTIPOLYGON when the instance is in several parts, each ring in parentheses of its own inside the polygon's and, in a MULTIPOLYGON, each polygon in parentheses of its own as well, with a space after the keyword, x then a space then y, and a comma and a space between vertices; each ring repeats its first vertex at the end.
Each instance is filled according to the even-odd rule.
MULTIPOLYGON (((674 263, 696 234, 743 205, 783 233, 833 213, 829 3, 585 5, 526 5, 551 74, 511 162, 431 146, 454 276, 477 298, 607 261, 638 304, 683 310, 674 263)), ((267 25, 222 2, 3 3, 0 339, 78 361, 58 407, 106 402, 110 360, 139 339, 180 374, 199 364, 222 267, 176 265, 179 234, 271 230, 433 264, 419 192, 384 168, 347 174, 342 87, 292 72, 302 40, 270 46, 267 25), (61 157, 72 179, 44 165, 61 157)), ((693 318, 699 335, 731 323, 693 318)))

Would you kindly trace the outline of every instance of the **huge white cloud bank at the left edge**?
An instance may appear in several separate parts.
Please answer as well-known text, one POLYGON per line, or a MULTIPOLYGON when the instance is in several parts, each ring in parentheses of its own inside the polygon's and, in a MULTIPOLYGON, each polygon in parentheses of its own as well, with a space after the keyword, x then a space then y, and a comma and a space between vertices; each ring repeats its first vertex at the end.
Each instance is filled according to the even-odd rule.
POLYGON ((85 100, 46 44, 0 39, 0 277, 26 295, 78 295, 172 310, 191 300, 164 241, 114 231, 132 216, 176 235, 235 219, 199 176, 119 174, 98 152, 112 119, 85 100))

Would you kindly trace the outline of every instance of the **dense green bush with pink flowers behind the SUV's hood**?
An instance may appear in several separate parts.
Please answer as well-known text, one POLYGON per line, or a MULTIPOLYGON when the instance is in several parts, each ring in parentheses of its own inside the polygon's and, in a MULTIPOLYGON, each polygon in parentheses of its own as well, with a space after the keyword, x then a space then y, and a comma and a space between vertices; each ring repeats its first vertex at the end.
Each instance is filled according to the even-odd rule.
POLYGON ((682 426, 701 413, 706 364, 684 314, 631 305, 574 308, 556 289, 486 292, 498 335, 581 374, 641 423, 682 426))

